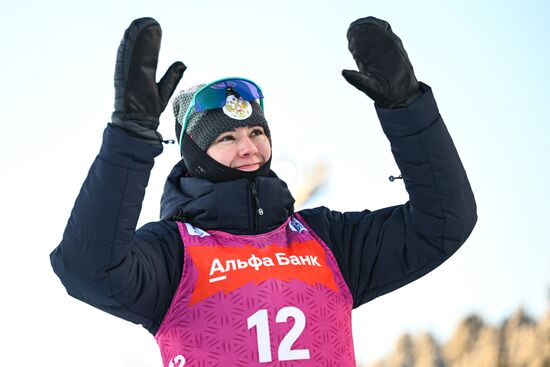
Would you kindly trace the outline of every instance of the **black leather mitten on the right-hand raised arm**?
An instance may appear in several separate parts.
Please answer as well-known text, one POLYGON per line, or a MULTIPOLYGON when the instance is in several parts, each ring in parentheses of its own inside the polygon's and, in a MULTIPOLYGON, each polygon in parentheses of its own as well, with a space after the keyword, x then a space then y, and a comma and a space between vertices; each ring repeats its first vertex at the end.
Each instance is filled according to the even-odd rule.
POLYGON ((342 75, 378 106, 405 107, 422 93, 403 43, 389 23, 374 17, 357 19, 347 38, 359 71, 343 70, 342 75))

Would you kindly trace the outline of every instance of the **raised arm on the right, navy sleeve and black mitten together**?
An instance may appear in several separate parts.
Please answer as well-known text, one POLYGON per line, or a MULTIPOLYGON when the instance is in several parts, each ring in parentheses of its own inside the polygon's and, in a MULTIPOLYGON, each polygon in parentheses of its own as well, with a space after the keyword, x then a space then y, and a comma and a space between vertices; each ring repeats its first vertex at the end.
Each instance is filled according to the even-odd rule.
POLYGON ((433 270, 476 220, 468 178, 430 87, 418 83, 388 23, 363 18, 348 30, 359 71, 344 77, 375 101, 409 201, 376 211, 302 212, 331 247, 357 307, 433 270))

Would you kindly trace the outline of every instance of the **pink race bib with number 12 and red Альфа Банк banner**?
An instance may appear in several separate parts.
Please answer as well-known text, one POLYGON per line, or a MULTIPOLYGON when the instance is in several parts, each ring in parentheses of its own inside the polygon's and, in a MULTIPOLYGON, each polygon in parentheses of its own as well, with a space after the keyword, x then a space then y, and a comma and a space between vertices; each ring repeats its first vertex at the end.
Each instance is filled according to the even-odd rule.
POLYGON ((155 335, 165 367, 355 367, 351 294, 302 223, 254 236, 178 223, 183 275, 155 335))

